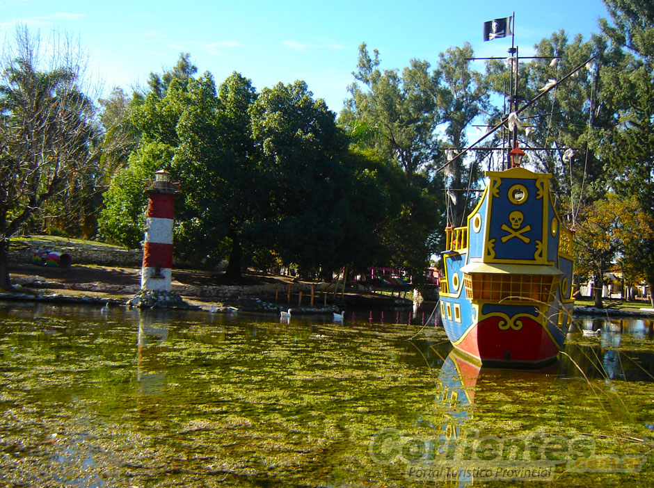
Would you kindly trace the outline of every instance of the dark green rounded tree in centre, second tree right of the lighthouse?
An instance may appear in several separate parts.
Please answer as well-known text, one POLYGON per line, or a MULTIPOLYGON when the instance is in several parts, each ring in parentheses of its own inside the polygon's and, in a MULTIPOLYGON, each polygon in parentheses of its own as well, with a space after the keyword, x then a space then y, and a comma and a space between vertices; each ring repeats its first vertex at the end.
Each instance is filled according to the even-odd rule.
POLYGON ((303 270, 340 268, 337 248, 349 216, 343 165, 347 140, 323 99, 306 83, 264 88, 250 108, 263 183, 275 219, 274 248, 284 263, 303 270))

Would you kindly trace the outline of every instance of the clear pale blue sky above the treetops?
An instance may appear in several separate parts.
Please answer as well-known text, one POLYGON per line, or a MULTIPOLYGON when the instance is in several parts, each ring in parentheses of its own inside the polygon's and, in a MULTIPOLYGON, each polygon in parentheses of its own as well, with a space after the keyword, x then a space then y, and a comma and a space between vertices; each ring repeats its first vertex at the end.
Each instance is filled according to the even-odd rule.
POLYGON ((510 39, 482 42, 482 24, 513 11, 522 55, 559 29, 588 39, 607 17, 601 0, 0 0, 0 31, 11 40, 23 24, 42 37, 55 29, 79 38, 109 88, 142 85, 186 51, 216 83, 233 71, 257 90, 303 79, 337 112, 361 42, 380 51, 384 69, 401 69, 411 58, 436 65, 440 52, 463 42, 477 56, 504 56, 510 39))

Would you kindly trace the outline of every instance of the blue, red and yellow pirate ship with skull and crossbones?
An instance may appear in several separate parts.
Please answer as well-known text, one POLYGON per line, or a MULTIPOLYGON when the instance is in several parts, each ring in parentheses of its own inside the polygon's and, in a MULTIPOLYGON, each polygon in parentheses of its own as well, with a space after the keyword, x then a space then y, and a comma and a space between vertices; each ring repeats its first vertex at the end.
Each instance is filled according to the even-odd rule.
MULTIPOLYGON (((516 60, 511 110, 486 136, 585 65, 518 108, 517 49, 509 53, 516 60)), ((445 229, 440 314, 449 341, 477 364, 541 368, 556 360, 572 319, 573 234, 555 209, 552 175, 522 167, 515 127, 509 147, 502 170, 486 172, 467 224, 445 229)))

